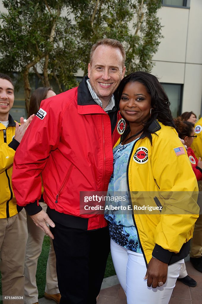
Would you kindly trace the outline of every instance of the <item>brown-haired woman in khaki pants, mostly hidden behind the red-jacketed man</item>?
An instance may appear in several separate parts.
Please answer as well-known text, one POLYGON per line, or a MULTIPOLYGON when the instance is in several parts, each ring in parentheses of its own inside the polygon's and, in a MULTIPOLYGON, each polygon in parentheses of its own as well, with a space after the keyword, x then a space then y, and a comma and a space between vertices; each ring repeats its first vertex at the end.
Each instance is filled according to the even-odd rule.
MULTIPOLYGON (((49 87, 36 89, 30 98, 29 112, 36 114, 43 99, 55 96, 55 92, 49 87)), ((47 205, 44 203, 43 195, 39 202, 44 211, 47 205)), ((41 254, 43 238, 45 233, 37 227, 33 220, 27 215, 28 241, 25 257, 25 304, 38 304, 38 289, 36 285, 36 269, 39 255, 41 254)), ((56 274, 56 257, 53 249, 53 241, 50 239, 50 251, 46 266, 46 288, 44 297, 60 303, 60 293, 56 274)))

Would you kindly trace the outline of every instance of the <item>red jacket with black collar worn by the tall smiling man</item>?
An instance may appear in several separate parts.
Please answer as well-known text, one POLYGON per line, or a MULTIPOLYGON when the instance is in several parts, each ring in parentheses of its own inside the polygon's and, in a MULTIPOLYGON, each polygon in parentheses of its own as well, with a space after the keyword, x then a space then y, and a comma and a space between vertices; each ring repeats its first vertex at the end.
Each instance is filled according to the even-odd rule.
MULTIPOLYGON (((80 215, 80 191, 108 190, 112 147, 122 129, 117 110, 108 115, 92 99, 86 78, 78 88, 43 100, 15 154, 12 185, 17 203, 26 206, 40 199, 41 174, 53 220, 70 220, 88 230, 107 226, 103 215, 80 215), (75 217, 86 219, 85 225, 75 217)), ((27 207, 30 215, 40 211, 36 203, 27 207)))

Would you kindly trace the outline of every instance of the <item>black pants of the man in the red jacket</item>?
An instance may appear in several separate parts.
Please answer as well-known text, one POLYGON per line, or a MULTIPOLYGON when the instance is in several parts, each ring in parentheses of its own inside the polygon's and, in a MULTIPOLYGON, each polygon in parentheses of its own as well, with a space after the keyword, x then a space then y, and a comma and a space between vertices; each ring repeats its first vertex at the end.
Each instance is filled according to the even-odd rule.
POLYGON ((108 227, 86 231, 55 223, 50 230, 60 304, 96 304, 110 250, 108 227))

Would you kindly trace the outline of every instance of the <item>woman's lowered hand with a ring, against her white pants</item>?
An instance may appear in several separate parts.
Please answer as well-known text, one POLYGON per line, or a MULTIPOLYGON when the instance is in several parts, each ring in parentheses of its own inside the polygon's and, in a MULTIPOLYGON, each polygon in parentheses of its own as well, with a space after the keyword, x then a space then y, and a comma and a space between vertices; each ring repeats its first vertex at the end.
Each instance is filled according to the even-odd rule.
POLYGON ((156 288, 160 282, 166 283, 168 273, 168 264, 159 261, 158 259, 151 258, 149 261, 147 272, 144 280, 147 279, 147 286, 156 288))

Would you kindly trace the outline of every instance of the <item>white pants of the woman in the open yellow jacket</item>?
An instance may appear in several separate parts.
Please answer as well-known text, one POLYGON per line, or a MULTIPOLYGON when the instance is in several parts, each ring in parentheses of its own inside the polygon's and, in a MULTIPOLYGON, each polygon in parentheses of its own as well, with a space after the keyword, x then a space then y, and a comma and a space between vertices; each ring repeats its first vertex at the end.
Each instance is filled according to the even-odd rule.
POLYGON ((142 254, 111 240, 111 256, 128 304, 168 304, 183 260, 168 266, 167 281, 162 287, 152 288, 144 280, 147 269, 142 254))

